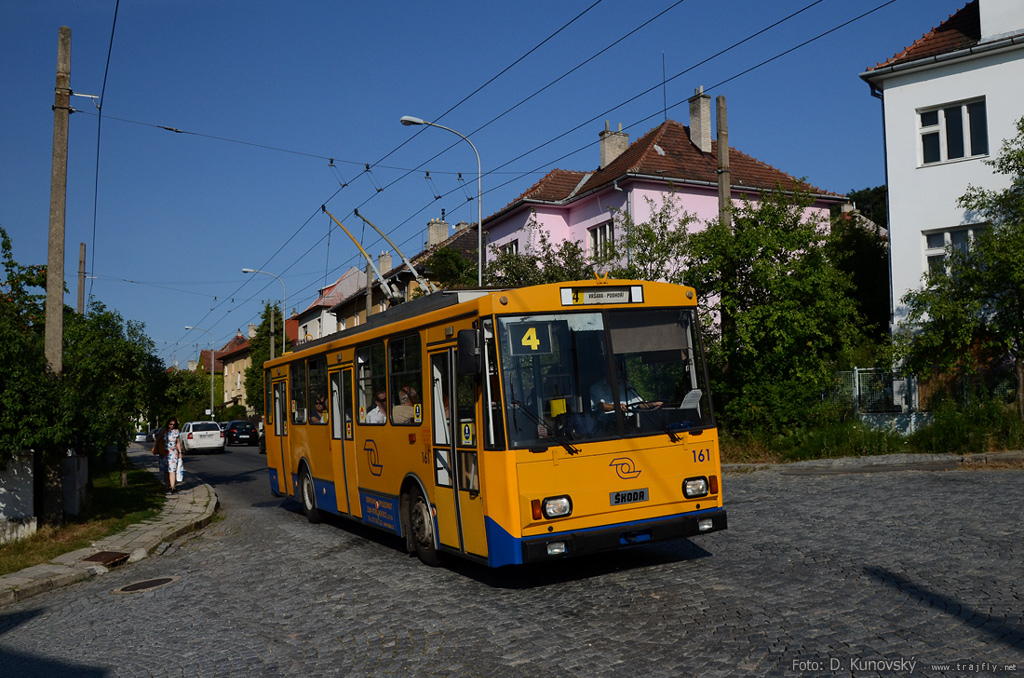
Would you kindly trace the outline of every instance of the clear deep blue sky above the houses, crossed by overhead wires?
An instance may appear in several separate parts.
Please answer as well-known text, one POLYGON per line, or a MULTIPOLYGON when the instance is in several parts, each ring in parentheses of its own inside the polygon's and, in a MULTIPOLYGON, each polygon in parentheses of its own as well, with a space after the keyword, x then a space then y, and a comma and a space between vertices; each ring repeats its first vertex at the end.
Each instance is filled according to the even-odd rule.
POLYGON ((475 220, 469 145, 403 115, 472 138, 484 216, 550 169, 595 169, 605 120, 631 140, 666 116, 688 124, 698 85, 726 97, 731 145, 847 193, 885 181, 881 104, 858 74, 966 1, 126 0, 108 68, 115 0, 2 0, 0 225, 16 261, 46 262, 60 26, 73 90, 103 91, 101 118, 73 98, 66 301, 84 242, 87 291, 183 365, 210 345, 184 326, 219 347, 281 300, 243 267, 280 276, 302 310, 365 265, 324 203, 375 255, 389 248, 353 209, 409 256, 442 209, 475 220))

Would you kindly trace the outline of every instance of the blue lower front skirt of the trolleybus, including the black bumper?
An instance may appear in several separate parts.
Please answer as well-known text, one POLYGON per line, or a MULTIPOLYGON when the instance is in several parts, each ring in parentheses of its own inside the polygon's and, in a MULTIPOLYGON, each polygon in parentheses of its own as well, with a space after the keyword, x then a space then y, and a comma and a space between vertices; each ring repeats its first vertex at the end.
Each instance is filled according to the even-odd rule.
MULTIPOLYGON (((707 524, 707 523, 706 523, 707 524)), ((497 522, 486 518, 487 564, 492 567, 554 560, 571 555, 611 551, 627 546, 667 539, 694 537, 725 529, 728 526, 725 509, 713 508, 683 513, 655 520, 623 522, 604 527, 549 533, 543 537, 517 539, 497 522), (711 526, 699 528, 699 523, 711 520, 711 526), (549 555, 549 545, 562 545, 560 551, 549 555)))

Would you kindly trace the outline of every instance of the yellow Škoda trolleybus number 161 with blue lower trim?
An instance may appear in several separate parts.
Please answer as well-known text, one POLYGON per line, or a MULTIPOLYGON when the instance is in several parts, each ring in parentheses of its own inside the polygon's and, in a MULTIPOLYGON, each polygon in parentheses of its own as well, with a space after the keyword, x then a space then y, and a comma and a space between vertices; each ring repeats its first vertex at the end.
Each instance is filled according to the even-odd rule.
POLYGON ((271 491, 498 567, 726 528, 696 295, 439 292, 265 364, 271 491))

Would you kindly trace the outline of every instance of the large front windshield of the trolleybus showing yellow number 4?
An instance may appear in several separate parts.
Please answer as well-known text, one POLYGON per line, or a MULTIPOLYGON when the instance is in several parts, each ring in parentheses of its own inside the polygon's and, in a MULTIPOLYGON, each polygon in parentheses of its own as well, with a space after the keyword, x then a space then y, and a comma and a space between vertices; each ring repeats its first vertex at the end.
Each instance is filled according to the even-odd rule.
POLYGON ((609 309, 498 319, 510 448, 713 427, 696 312, 609 309))

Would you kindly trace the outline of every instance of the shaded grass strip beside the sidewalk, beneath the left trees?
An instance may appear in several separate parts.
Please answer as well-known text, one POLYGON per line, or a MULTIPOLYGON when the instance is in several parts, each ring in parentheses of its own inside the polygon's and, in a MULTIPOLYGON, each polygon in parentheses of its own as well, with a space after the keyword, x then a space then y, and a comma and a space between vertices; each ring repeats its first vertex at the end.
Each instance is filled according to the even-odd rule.
POLYGON ((157 516, 166 502, 152 471, 128 470, 128 486, 121 486, 121 470, 94 475, 87 508, 62 525, 43 525, 32 537, 0 546, 0 576, 38 565, 58 555, 157 516))

